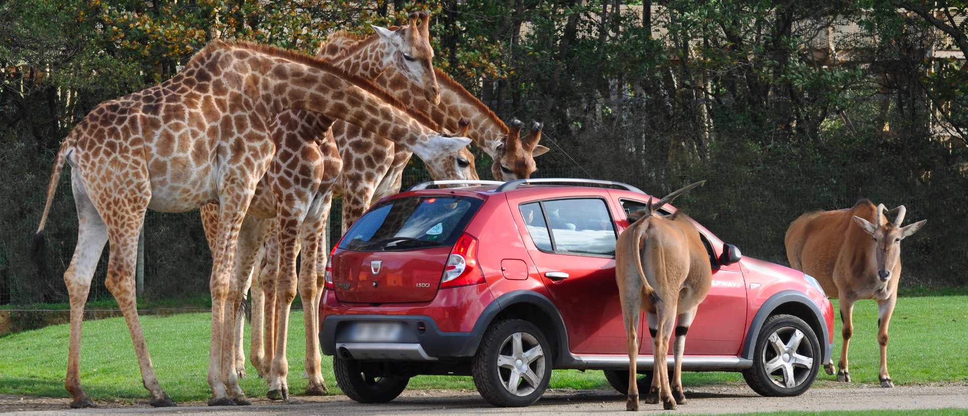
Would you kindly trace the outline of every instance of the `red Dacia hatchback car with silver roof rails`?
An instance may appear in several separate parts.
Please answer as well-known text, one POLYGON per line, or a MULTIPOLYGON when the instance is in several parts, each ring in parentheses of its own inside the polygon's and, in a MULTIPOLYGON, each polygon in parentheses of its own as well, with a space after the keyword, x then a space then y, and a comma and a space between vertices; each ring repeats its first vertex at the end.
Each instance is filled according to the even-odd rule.
MULTIPOLYGON (((487 401, 526 406, 552 369, 577 369, 604 370, 626 393, 615 242, 650 195, 583 179, 426 189, 458 182, 468 183, 425 183, 380 200, 334 248, 319 340, 340 388, 355 401, 385 402, 414 375, 472 375, 487 401)), ((696 226, 712 288, 682 370, 741 371, 761 395, 802 394, 831 360, 833 309, 820 284, 741 257, 696 226)), ((648 378, 647 325, 643 316, 638 365, 648 378)))

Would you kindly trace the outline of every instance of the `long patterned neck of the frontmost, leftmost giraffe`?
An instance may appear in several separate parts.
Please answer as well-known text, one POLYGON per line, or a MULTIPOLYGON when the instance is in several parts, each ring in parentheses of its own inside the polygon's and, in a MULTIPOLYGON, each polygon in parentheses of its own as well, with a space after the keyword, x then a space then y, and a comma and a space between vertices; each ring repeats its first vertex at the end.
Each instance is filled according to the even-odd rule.
POLYGON ((265 120, 286 110, 312 111, 388 137, 421 159, 435 157, 438 150, 430 141, 439 128, 426 115, 315 58, 271 46, 222 44, 181 74, 212 77, 209 89, 227 97, 229 111, 251 105, 265 120))

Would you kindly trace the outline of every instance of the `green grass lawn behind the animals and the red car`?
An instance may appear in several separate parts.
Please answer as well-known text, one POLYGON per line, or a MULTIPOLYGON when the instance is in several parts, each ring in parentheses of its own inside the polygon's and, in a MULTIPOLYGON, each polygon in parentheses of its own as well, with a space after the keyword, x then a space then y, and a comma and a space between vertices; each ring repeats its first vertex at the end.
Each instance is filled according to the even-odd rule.
MULTIPOLYGON (((834 301, 834 310, 836 305, 834 301)), ((167 317, 142 316, 141 323, 162 387, 175 401, 202 401, 211 394, 205 381, 211 328, 208 313, 167 317)), ((851 342, 851 374, 855 382, 876 383, 878 371, 877 307, 872 301, 854 308, 855 335, 851 342)), ((914 297, 897 302, 891 325, 890 369, 896 384, 968 379, 968 297, 914 297)), ((839 357, 839 320, 835 329, 834 361, 839 357)), ((247 329, 248 332, 248 329, 247 329)), ((95 399, 147 398, 141 387, 134 348, 123 318, 84 322, 81 345, 81 382, 95 399)), ((64 390, 69 327, 56 325, 0 338, 0 395, 68 397, 64 390)), ((248 337, 246 338, 248 345, 248 337)), ((302 378, 305 336, 302 312, 289 323, 290 390, 306 388, 302 378)), ((323 376, 333 393, 340 393, 329 357, 323 356, 323 376)), ((265 382, 256 371, 241 381, 246 394, 264 396, 265 382)), ((821 371, 822 380, 835 380, 821 371)), ((685 372, 686 386, 742 382, 738 373, 685 372)), ((551 388, 607 388, 602 371, 554 371, 551 388)), ((414 377, 411 389, 468 389, 466 376, 414 377)), ((871 413, 874 414, 874 413, 871 413)))

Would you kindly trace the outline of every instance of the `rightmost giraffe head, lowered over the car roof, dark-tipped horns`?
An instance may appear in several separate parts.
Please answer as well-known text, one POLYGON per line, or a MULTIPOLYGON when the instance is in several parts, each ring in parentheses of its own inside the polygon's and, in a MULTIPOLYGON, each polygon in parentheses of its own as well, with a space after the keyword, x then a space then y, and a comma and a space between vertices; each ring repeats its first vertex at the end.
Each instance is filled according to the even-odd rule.
POLYGON ((537 170, 534 158, 544 155, 548 148, 538 144, 541 140, 541 123, 531 122, 530 132, 524 137, 521 130, 525 124, 521 120, 512 120, 507 136, 501 139, 495 149, 494 164, 491 174, 499 181, 513 181, 527 179, 537 170))

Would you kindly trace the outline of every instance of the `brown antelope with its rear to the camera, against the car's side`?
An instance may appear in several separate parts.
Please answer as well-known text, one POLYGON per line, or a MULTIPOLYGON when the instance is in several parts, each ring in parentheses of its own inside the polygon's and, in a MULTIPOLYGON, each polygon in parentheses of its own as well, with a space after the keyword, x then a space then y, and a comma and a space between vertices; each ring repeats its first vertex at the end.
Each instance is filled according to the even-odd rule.
POLYGON ((636 383, 636 341, 639 313, 649 313, 649 331, 654 342, 652 385, 647 403, 662 400, 666 409, 685 404, 682 394, 682 351, 696 309, 710 292, 712 270, 709 254, 699 238, 699 230, 681 211, 669 217, 655 214, 676 196, 696 188, 697 182, 670 193, 656 203, 651 198, 646 209, 628 216, 630 223, 616 242, 616 281, 619 283, 621 317, 628 336, 628 401, 626 410, 639 409, 639 387, 636 383), (677 323, 678 316, 678 323, 677 323), (676 367, 672 386, 666 357, 673 324, 676 342, 673 353, 676 367))

